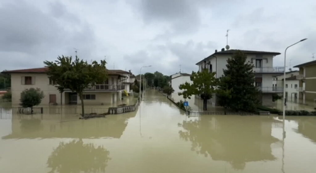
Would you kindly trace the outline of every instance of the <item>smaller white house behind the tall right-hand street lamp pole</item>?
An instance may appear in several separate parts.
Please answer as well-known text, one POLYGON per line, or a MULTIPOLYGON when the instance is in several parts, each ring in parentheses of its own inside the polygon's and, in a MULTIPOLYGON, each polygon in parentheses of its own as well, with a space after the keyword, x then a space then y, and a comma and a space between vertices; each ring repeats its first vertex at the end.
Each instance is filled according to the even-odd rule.
MULTIPOLYGON (((299 100, 299 82, 296 77, 299 71, 290 71, 285 74, 285 98, 287 101, 298 102, 299 100)), ((277 75, 273 78, 272 87, 283 87, 284 74, 277 75)))

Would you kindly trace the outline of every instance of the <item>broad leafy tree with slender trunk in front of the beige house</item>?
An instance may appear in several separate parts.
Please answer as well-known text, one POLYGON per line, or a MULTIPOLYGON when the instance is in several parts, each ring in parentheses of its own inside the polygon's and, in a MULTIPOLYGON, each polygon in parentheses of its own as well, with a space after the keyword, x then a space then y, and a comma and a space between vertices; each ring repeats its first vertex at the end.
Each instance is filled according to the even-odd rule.
POLYGON ((83 90, 107 79, 106 61, 101 60, 100 64, 93 61, 89 64, 77 56, 74 61, 72 61, 71 56, 58 56, 57 59, 55 62, 44 62, 48 67, 47 74, 52 80, 55 80, 56 87, 60 92, 63 92, 64 89, 70 89, 79 95, 82 116, 84 116, 83 90))

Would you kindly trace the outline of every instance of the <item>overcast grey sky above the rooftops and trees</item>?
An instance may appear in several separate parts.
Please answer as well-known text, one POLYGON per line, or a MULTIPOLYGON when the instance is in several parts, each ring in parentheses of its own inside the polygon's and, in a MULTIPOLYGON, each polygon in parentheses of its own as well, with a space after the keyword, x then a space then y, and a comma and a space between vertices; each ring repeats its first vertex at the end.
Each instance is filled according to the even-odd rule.
MULTIPOLYGON (((315 0, 1 0, 0 71, 43 67, 58 55, 101 60, 107 68, 166 75, 196 71, 226 45, 275 51, 274 66, 312 61, 315 0), (304 3, 302 3, 304 2, 304 3)), ((315 54, 316 57, 316 54, 315 54)), ((316 58, 315 58, 316 60, 316 58)), ((287 67, 289 68, 289 67, 287 67)))

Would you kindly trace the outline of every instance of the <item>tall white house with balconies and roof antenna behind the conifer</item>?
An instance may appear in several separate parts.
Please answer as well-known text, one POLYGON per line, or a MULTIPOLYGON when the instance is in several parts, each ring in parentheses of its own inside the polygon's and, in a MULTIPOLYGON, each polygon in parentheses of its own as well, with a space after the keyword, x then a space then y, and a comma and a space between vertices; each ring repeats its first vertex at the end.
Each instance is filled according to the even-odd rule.
MULTIPOLYGON (((203 60, 196 63, 199 66, 199 71, 206 68, 209 72, 216 72, 216 78, 220 78, 223 75, 223 70, 227 69, 227 60, 231 58, 232 55, 237 50, 224 50, 217 51, 215 53, 204 58, 203 60)), ((272 94, 273 93, 282 93, 283 88, 272 87, 273 76, 277 74, 282 74, 284 72, 283 67, 274 67, 273 66, 273 57, 280 55, 279 52, 264 52, 264 51, 251 51, 251 50, 240 50, 247 56, 247 61, 253 63, 253 72, 255 73, 255 83, 254 85, 258 86, 258 89, 262 92, 262 104, 265 106, 273 106, 272 94)), ((217 105, 216 95, 210 99, 212 103, 217 105)))

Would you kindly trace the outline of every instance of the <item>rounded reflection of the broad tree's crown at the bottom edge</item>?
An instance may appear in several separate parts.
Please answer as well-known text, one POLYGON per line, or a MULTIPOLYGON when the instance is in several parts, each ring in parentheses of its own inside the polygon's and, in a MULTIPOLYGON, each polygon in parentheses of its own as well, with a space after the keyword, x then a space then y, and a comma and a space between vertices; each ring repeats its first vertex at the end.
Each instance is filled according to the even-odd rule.
POLYGON ((103 146, 84 144, 82 139, 61 142, 47 160, 52 168, 49 173, 105 172, 109 153, 103 146))

